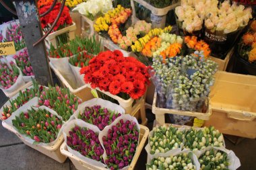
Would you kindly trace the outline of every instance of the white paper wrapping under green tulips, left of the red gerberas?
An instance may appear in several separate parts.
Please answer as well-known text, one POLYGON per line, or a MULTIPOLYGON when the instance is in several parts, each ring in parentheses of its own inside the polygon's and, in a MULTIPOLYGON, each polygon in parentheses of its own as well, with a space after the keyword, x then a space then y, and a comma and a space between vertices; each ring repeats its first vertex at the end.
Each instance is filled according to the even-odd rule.
POLYGON ((73 89, 77 89, 77 81, 75 76, 73 75, 73 71, 69 67, 69 57, 64 58, 51 58, 49 60, 53 64, 53 67, 57 69, 61 75, 65 78, 65 80, 73 87, 73 89))

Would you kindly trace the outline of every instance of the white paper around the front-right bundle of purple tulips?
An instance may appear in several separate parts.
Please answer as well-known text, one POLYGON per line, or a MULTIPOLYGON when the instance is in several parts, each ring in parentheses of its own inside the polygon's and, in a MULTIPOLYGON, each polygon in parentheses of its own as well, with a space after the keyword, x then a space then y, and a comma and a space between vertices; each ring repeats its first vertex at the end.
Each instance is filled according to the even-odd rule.
MULTIPOLYGON (((129 114, 123 114, 122 116, 120 116, 119 118, 117 118, 114 122, 112 122, 112 124, 110 124, 109 126, 106 126, 101 132, 100 134, 98 135, 99 137, 99 140, 100 140, 100 143, 102 145, 102 147, 104 148, 104 144, 103 144, 103 136, 107 136, 108 135, 108 129, 112 128, 112 126, 116 125, 118 122, 120 122, 120 120, 123 120, 123 122, 129 120, 131 122, 135 122, 136 123, 136 127, 137 127, 137 130, 139 130, 140 132, 140 127, 139 127, 139 123, 137 122, 137 119, 134 118, 133 116, 130 116, 129 114)), ((138 140, 138 143, 137 143, 137 146, 139 145, 139 140, 138 140)), ((137 148, 137 147, 136 147, 137 148)), ((137 150, 137 149, 136 149, 137 150)), ((135 150, 135 151, 136 151, 135 150)), ((106 155, 106 150, 104 148, 104 154, 103 154, 103 159, 104 161, 106 160, 107 158, 107 155, 106 155)), ((133 160, 132 160, 133 161, 133 160)), ((129 166, 127 167, 123 167, 122 170, 127 170, 129 168, 129 166)))

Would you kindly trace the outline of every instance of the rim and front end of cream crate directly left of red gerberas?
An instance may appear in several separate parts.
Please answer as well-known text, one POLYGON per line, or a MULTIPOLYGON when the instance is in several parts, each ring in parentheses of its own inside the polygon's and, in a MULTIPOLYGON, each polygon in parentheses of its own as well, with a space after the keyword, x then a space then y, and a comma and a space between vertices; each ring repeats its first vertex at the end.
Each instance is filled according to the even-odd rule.
POLYGON ((82 99, 82 101, 87 101, 89 99, 93 99, 94 96, 91 93, 91 89, 88 85, 83 85, 82 87, 79 87, 77 89, 73 89, 71 85, 68 83, 68 81, 61 75, 61 73, 53 67, 53 65, 50 62, 50 66, 53 69, 53 72, 55 75, 57 75, 57 78, 59 79, 59 82, 61 83, 61 86, 67 87, 71 93, 82 99))

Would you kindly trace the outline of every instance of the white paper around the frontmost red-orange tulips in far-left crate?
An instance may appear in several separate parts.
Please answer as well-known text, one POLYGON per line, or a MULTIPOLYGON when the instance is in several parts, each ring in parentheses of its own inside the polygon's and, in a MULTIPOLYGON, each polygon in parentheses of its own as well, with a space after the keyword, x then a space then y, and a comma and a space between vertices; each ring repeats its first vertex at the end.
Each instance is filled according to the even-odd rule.
MULTIPOLYGON (((20 134, 20 132, 18 132, 17 128, 15 128, 15 126, 13 126, 12 124, 12 120, 15 120, 15 116, 20 116, 20 114, 22 112, 27 112, 28 110, 30 110, 33 106, 38 105, 38 97, 34 97, 33 99, 31 99, 30 101, 28 101, 28 103, 26 103, 25 105, 22 105, 22 107, 19 110, 16 110, 15 112, 13 112, 13 114, 11 114, 11 116, 5 121, 6 124, 8 124, 9 126, 11 126, 12 128, 14 128, 17 132, 17 136, 21 136, 20 138, 22 138, 22 140, 26 140, 26 142, 33 144, 35 142, 34 139, 30 138, 30 136, 26 136, 25 134, 20 134)), ((57 116, 57 118, 59 118, 60 120, 62 120, 61 116, 58 116, 58 114, 51 110, 50 108, 45 107, 44 105, 39 107, 42 110, 47 110, 49 111, 51 114, 57 116)), ((35 108, 34 110, 38 110, 39 108, 35 108)), ((63 127, 61 127, 61 129, 63 129, 63 127)), ((53 141, 53 142, 49 142, 49 143, 43 143, 40 142, 36 145, 39 146, 53 146, 61 137, 61 129, 59 130, 59 134, 57 135, 57 138, 53 141)))

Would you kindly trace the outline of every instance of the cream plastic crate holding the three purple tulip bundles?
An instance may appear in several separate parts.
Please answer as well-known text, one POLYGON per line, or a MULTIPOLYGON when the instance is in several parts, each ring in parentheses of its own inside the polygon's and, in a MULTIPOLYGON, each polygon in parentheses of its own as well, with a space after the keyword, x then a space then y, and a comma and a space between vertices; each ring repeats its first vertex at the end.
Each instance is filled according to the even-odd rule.
MULTIPOLYGON (((140 126, 140 133, 139 133, 139 145, 137 147, 136 153, 133 157, 133 161, 131 162, 130 166, 129 166, 129 170, 134 169, 135 165, 137 163, 137 160, 139 159, 139 155, 142 151, 142 148, 148 138, 148 134, 150 133, 150 130, 146 127, 146 126, 140 126)), ((72 155, 71 153, 69 153, 69 151, 67 151, 67 144, 65 144, 65 142, 61 145, 61 153, 63 155, 65 155, 66 157, 69 157, 69 159, 72 161, 73 165, 75 165, 75 168, 78 170, 82 170, 82 169, 94 169, 94 170, 103 170, 106 168, 97 168, 97 167, 93 167, 92 165, 85 163, 84 161, 82 161, 81 159, 79 159, 78 157, 76 157, 75 155, 72 155)))

